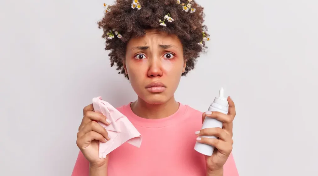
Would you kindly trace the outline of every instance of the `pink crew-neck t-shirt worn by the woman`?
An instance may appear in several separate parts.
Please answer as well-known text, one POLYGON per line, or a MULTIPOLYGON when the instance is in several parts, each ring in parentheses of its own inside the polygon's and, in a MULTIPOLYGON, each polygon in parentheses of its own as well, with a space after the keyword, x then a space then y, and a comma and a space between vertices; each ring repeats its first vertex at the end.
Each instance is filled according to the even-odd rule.
MULTIPOLYGON (((205 176, 204 155, 194 150, 195 131, 202 127, 202 112, 180 103, 179 109, 162 119, 136 116, 130 103, 117 108, 142 135, 137 148, 124 143, 108 154, 108 176, 205 176)), ((79 152, 72 176, 88 176, 89 162, 79 152)), ((239 176, 232 154, 224 176, 239 176)))

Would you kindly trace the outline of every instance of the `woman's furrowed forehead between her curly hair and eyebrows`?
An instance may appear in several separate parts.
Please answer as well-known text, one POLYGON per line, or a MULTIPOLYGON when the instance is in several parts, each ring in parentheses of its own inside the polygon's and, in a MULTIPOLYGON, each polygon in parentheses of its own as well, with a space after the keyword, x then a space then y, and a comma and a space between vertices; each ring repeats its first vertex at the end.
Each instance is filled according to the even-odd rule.
POLYGON ((176 35, 160 32, 155 29, 146 30, 146 34, 142 37, 131 38, 127 47, 148 45, 174 45, 182 48, 181 41, 176 35))

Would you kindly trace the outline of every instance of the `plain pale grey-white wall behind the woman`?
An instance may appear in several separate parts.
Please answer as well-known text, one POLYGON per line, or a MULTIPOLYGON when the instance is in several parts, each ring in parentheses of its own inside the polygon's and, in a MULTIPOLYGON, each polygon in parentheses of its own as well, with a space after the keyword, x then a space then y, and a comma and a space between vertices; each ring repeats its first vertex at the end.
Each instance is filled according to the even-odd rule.
MULTIPOLYGON (((106 3, 112 4, 107 0, 106 3)), ((241 176, 318 172, 318 3, 197 0, 211 41, 177 101, 205 111, 223 87, 236 103, 241 176)), ((0 175, 70 175, 82 109, 136 98, 109 66, 96 22, 104 1, 0 4, 0 175)))

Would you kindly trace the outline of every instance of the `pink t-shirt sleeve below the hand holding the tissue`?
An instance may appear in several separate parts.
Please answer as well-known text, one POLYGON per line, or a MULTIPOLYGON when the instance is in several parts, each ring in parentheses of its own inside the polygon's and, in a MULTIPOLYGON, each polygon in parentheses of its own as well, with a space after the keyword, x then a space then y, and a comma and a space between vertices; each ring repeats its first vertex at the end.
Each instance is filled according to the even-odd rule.
POLYGON ((84 157, 83 153, 79 151, 73 168, 72 176, 88 176, 89 175, 89 162, 84 157))

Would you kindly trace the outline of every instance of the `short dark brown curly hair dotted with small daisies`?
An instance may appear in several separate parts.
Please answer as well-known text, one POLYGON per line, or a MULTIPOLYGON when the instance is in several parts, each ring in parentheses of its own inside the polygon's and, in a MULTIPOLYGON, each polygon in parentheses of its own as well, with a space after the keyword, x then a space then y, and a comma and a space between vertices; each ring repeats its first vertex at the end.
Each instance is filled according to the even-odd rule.
POLYGON ((108 56, 110 56, 111 67, 116 64, 116 70, 120 70, 118 74, 124 74, 129 79, 123 68, 129 39, 144 36, 147 29, 156 29, 160 32, 175 34, 180 39, 184 59, 187 61, 182 76, 188 74, 190 70, 194 69, 200 53, 205 52, 207 48, 203 40, 203 36, 209 36, 206 33, 206 25, 203 25, 204 8, 192 0, 181 0, 181 2, 177 0, 136 0, 141 5, 141 9, 138 10, 132 7, 134 1, 116 0, 114 5, 107 5, 109 7, 107 12, 98 22, 98 28, 103 29, 102 38, 106 39, 105 50, 110 50, 108 56), (187 4, 191 4, 191 6, 189 5, 190 11, 183 9, 187 7, 187 4), (191 13, 191 8, 195 9, 195 12, 191 13), (166 26, 160 25, 167 14, 174 21, 166 21, 166 26), (114 38, 114 33, 118 35, 118 32, 120 37, 114 38), (198 45, 200 42, 203 46, 198 45))

